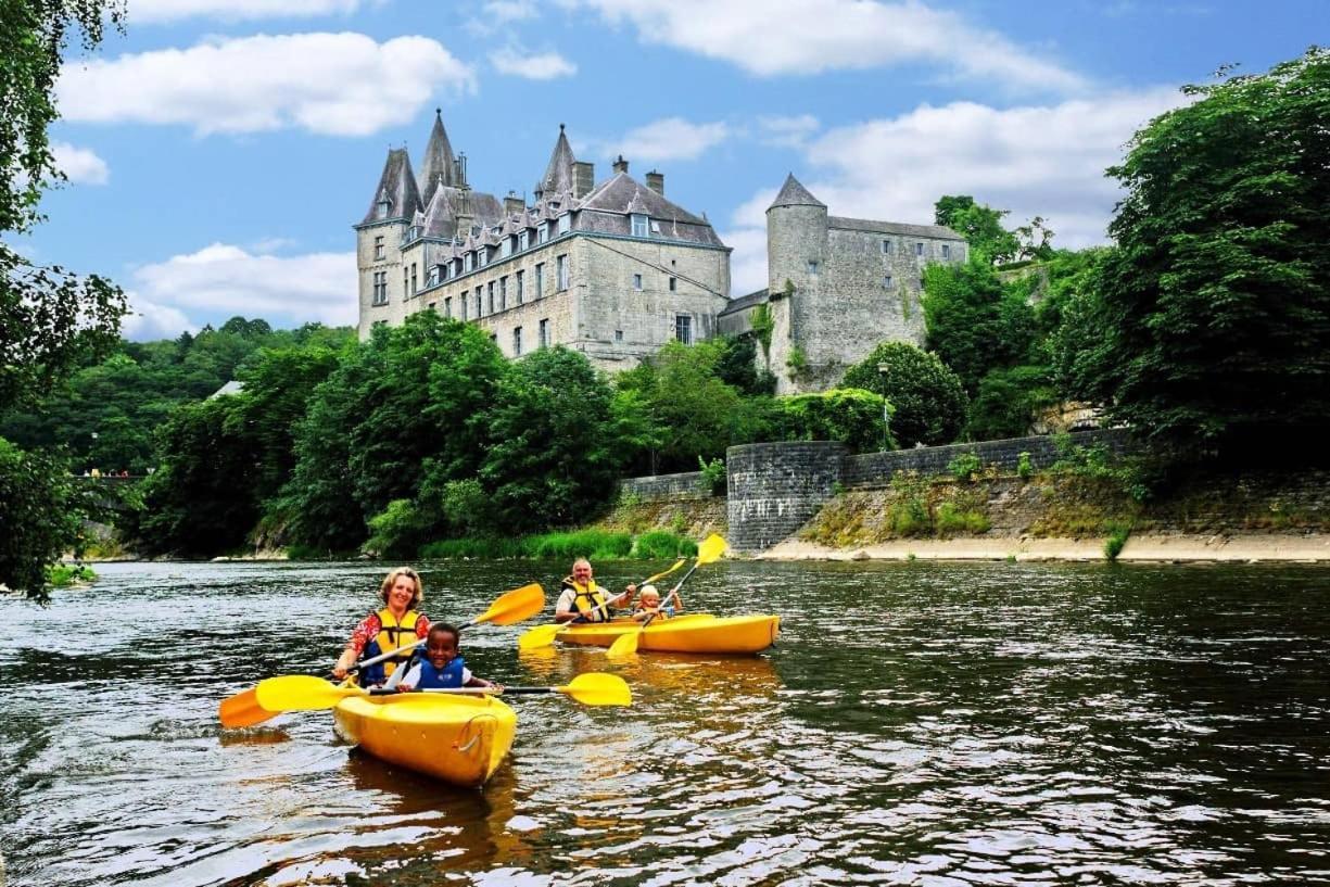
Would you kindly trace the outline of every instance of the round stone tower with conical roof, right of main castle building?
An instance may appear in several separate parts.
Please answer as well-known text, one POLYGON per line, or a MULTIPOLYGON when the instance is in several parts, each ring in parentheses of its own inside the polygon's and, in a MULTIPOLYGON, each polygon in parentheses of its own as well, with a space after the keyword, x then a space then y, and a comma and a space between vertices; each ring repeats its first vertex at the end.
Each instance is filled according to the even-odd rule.
POLYGON ((826 259, 827 206, 791 173, 766 209, 767 293, 775 320, 770 370, 777 394, 814 390, 809 371, 790 364, 815 356, 813 324, 819 310, 830 307, 821 305, 826 259))

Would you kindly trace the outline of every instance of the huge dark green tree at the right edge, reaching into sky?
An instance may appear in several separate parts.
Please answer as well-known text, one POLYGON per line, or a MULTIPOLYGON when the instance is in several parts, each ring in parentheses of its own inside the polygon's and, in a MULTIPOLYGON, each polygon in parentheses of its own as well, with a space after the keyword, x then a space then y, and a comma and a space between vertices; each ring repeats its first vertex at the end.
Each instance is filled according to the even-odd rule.
POLYGON ((1108 170, 1119 249, 1059 374, 1169 448, 1303 439, 1330 423, 1330 52, 1184 92, 1108 170))

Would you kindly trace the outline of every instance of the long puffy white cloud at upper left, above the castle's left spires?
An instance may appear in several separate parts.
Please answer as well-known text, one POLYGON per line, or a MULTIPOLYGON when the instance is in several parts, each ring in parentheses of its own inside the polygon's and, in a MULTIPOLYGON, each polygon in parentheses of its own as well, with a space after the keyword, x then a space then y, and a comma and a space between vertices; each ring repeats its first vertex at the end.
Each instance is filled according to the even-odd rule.
POLYGON ((434 40, 379 44, 359 33, 258 35, 92 60, 65 65, 57 84, 61 116, 77 122, 332 136, 414 120, 436 90, 473 88, 471 68, 434 40))

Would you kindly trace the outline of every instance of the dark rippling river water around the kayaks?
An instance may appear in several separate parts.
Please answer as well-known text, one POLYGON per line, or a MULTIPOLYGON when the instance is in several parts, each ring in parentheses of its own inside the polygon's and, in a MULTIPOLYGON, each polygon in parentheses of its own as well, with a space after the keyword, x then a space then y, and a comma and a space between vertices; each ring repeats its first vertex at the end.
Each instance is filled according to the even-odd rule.
MULTIPOLYGON (((422 567, 424 609, 464 621, 567 565, 422 567)), ((706 567, 690 608, 785 617, 742 658, 519 656, 529 624, 477 626, 477 674, 636 694, 513 698, 483 791, 339 743, 326 711, 217 722, 326 673, 382 565, 98 572, 0 600, 11 887, 1330 883, 1325 568, 706 567)))

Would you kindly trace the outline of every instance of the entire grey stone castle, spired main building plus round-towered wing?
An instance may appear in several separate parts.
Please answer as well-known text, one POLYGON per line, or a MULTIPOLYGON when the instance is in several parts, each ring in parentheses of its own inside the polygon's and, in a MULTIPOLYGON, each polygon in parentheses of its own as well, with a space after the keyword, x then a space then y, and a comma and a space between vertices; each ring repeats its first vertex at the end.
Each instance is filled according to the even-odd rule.
POLYGON ((360 338, 431 310, 509 358, 564 344, 616 371, 757 320, 777 392, 819 391, 886 339, 922 344, 924 265, 966 258, 946 227, 829 215, 790 176, 767 209, 767 289, 730 299, 730 247, 665 198, 661 173, 645 180, 620 157, 597 184, 560 125, 535 201, 500 201, 469 188, 436 110, 419 176, 390 149, 355 225, 360 338))

